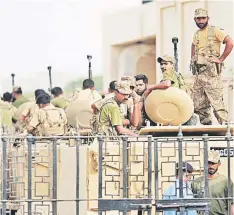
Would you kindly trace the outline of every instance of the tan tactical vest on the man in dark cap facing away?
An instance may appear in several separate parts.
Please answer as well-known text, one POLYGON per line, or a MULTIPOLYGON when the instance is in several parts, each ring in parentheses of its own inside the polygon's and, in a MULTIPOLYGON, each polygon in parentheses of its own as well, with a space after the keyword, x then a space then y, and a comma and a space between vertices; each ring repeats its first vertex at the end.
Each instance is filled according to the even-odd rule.
POLYGON ((60 108, 41 109, 45 113, 45 119, 38 126, 38 135, 64 135, 67 132, 67 119, 66 115, 62 113, 60 108), (51 116, 51 112, 56 111, 59 113, 59 120, 54 120, 51 116))

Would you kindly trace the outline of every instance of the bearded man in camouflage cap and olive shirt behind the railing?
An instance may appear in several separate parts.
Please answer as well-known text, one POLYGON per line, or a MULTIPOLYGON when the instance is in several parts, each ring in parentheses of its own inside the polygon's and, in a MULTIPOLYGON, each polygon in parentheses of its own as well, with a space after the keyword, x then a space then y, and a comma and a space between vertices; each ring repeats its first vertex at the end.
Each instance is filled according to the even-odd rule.
MULTIPOLYGON (((226 176, 220 175, 218 169, 221 165, 220 154, 218 151, 211 150, 208 152, 208 198, 211 199, 209 208, 209 215, 234 215, 234 205, 232 200, 231 211, 228 213, 228 200, 226 198, 233 198, 234 189, 233 182, 228 185, 226 176), (228 196, 228 188, 230 187, 230 194, 228 196), (219 199, 217 199, 219 198, 219 199)), ((204 198, 204 176, 197 178, 192 183, 192 191, 195 198, 204 198)), ((199 214, 202 214, 200 212, 199 214)))

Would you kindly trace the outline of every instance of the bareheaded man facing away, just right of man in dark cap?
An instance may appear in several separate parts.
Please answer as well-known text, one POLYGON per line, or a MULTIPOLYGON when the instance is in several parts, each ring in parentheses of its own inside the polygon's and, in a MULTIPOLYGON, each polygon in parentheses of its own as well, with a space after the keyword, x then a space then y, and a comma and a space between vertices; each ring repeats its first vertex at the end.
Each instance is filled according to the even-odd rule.
POLYGON ((64 97, 63 90, 60 87, 54 87, 51 90, 51 94, 53 96, 51 104, 53 104, 55 107, 65 110, 69 105, 69 101, 64 97))

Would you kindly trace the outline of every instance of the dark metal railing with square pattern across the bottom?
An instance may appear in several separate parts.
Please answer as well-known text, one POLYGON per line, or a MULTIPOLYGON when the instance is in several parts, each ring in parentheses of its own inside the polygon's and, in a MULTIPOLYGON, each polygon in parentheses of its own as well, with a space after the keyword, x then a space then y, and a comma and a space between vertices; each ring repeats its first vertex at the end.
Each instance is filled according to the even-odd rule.
POLYGON ((113 214, 113 211, 123 215, 151 215, 168 210, 180 214, 196 210, 208 214, 211 200, 222 199, 227 202, 230 214, 234 159, 230 133, 218 137, 183 137, 181 133, 176 137, 119 136, 115 140, 98 136, 90 146, 84 144, 86 138, 2 135, 0 214, 65 215, 66 212, 60 211, 61 207, 73 207, 69 214, 74 215, 95 210, 98 215, 113 214), (67 148, 74 152, 74 159, 61 156, 67 148), (84 148, 95 158, 87 159, 89 154, 81 152, 84 148), (221 153, 219 171, 226 175, 228 184, 228 195, 223 198, 210 198, 207 165, 210 149, 221 153), (73 179, 67 177, 65 184, 61 185, 60 179, 65 177, 62 169, 70 168, 70 164, 66 166, 70 160, 74 163, 74 168, 70 169, 74 173, 73 179), (183 162, 194 167, 186 185, 183 182, 183 162), (178 177, 176 163, 179 165, 178 177), (89 178, 84 164, 95 169, 93 179, 89 178), (202 196, 192 193, 189 197, 186 192, 191 189, 190 184, 200 176, 204 176, 202 196), (88 182, 81 183, 83 177, 88 178, 88 182), (173 184, 175 193, 166 194, 173 184), (72 188, 75 195, 63 196, 60 189, 64 186, 72 188), (81 195, 83 187, 87 188, 85 195, 81 195), (171 198, 166 198, 168 196, 171 198), (83 202, 96 202, 97 205, 84 206, 83 202))

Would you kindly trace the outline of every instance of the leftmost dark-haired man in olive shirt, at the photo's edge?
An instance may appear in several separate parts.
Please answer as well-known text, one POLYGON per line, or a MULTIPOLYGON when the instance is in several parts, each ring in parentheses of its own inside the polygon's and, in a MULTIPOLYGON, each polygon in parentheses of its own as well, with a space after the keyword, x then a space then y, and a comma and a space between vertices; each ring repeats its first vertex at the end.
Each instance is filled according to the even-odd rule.
POLYGON ((17 108, 11 104, 12 95, 9 92, 3 94, 0 101, 1 126, 11 127, 17 108))

